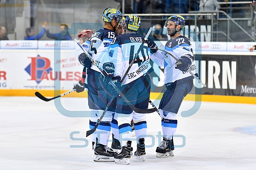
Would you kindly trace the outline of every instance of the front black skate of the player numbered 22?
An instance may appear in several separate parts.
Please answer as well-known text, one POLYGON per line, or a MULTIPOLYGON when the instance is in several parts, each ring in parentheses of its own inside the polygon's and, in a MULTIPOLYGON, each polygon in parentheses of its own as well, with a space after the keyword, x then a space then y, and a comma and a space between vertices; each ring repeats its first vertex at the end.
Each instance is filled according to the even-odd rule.
POLYGON ((163 137, 163 141, 161 141, 160 146, 156 148, 156 157, 169 157, 171 151, 171 140, 163 137))

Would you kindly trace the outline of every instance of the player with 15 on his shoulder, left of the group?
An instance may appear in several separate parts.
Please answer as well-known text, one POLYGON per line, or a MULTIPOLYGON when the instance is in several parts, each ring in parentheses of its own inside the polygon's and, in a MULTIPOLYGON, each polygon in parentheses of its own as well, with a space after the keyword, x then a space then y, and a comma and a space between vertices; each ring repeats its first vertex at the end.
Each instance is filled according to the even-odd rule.
MULTIPOLYGON (((100 58, 101 53, 108 51, 110 42, 117 36, 115 33, 117 26, 122 25, 122 13, 114 8, 107 8, 102 14, 102 19, 105 22, 104 27, 96 31, 91 37, 82 44, 83 48, 91 54, 93 60, 102 68, 100 58)), ((91 61, 86 57, 82 49, 77 49, 75 56, 78 57, 80 63, 85 66, 89 65, 87 70, 88 83, 88 104, 91 110, 90 128, 94 128, 100 117, 99 110, 104 110, 109 102, 108 91, 105 89, 106 83, 104 76, 95 66, 91 66, 91 61), (91 67, 90 67, 91 66, 91 67)), ((79 82, 78 82, 79 83, 79 82)), ((74 87, 75 88, 75 87, 74 87)), ((110 95, 109 95, 110 96, 110 95)), ((111 96, 109 97, 111 98, 111 96)), ((92 134, 92 139, 95 143, 95 159, 94 161, 114 161, 113 157, 116 152, 113 152, 108 145, 108 139, 111 129, 112 113, 115 113, 115 102, 109 107, 102 121, 100 122, 96 133, 92 134)), ((113 131, 112 131, 113 132, 113 131)))

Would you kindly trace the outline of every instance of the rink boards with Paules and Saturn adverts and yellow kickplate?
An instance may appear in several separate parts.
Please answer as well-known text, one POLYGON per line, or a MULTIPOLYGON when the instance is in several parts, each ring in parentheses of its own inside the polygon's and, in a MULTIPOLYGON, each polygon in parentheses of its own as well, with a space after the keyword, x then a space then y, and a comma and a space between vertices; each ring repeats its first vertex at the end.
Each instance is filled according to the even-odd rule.
MULTIPOLYGON (((39 91, 53 97, 72 90, 82 77, 82 66, 74 57, 76 44, 61 43, 31 41, 31 48, 24 49, 24 41, 1 41, 0 96, 34 96, 39 91)), ((159 47, 163 49, 165 43, 159 47)), ((192 42, 197 72, 207 87, 194 80, 196 88, 185 100, 195 101, 196 93, 202 94, 202 101, 256 104, 256 57, 248 52, 253 43, 192 42)), ((159 99, 165 91, 163 68, 150 64, 154 68, 151 99, 159 99)), ((87 92, 66 97, 87 97, 87 92)))

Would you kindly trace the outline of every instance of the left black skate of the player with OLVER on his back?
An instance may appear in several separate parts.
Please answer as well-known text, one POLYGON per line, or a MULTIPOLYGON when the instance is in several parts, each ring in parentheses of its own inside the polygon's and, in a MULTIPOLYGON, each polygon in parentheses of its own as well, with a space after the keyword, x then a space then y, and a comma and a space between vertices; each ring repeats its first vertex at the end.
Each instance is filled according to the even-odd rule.
POLYGON ((131 157, 131 147, 132 147, 131 144, 132 144, 132 141, 128 141, 127 146, 122 146, 121 152, 115 155, 115 163, 125 164, 125 165, 130 164, 130 161, 128 158, 131 157))

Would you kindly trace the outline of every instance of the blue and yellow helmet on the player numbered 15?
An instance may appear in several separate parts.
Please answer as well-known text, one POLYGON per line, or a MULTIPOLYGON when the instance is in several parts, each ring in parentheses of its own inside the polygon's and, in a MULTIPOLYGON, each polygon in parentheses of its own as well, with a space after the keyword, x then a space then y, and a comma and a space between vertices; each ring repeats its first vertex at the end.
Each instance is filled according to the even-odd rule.
POLYGON ((102 20, 108 23, 110 23, 113 19, 115 19, 117 22, 120 22, 122 17, 122 13, 115 8, 106 8, 102 14, 102 20))

